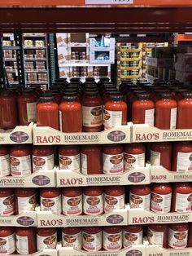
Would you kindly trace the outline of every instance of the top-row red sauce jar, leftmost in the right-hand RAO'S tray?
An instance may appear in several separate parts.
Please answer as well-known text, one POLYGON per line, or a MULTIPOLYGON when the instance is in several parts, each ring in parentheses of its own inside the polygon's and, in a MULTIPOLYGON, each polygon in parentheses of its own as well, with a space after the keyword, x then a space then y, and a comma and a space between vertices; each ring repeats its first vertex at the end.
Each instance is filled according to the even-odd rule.
POLYGON ((154 126, 155 104, 149 94, 137 94, 137 100, 132 104, 133 124, 148 124, 154 126))

